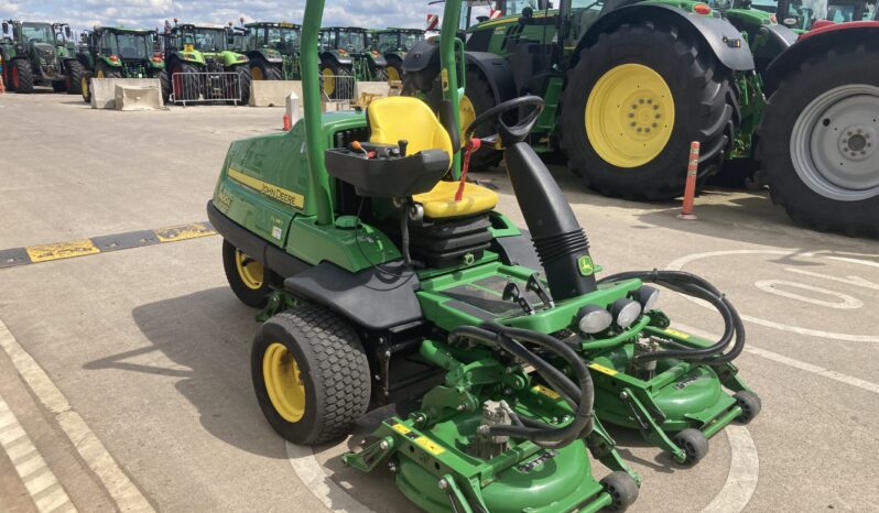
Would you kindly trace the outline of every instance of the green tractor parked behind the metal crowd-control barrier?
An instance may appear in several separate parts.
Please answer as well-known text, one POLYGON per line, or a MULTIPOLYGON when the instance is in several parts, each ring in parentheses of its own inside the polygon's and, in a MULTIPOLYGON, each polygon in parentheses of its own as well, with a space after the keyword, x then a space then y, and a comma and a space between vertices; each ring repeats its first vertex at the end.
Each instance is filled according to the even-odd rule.
POLYGON ((162 47, 174 101, 198 99, 247 103, 250 99, 250 66, 247 55, 232 50, 228 26, 165 22, 162 47))

